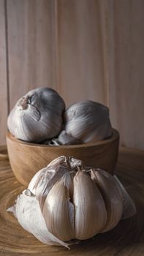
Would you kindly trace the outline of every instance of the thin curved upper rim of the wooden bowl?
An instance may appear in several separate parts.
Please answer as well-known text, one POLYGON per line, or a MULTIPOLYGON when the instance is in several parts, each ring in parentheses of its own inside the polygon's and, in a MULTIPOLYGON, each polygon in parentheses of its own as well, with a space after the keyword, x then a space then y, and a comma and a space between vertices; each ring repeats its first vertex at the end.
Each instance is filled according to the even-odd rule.
POLYGON ((37 148, 85 148, 90 146, 99 146, 102 144, 107 144, 109 142, 112 142, 113 140, 117 140, 119 138, 119 132, 117 129, 113 128, 113 133, 109 138, 106 138, 104 140, 97 140, 95 142, 90 143, 83 143, 83 144, 77 144, 77 145, 61 145, 61 146, 48 146, 45 144, 39 144, 39 143, 31 143, 27 141, 20 140, 18 138, 15 138, 11 132, 7 131, 6 138, 9 140, 12 140, 12 142, 22 144, 23 146, 35 146, 37 148))

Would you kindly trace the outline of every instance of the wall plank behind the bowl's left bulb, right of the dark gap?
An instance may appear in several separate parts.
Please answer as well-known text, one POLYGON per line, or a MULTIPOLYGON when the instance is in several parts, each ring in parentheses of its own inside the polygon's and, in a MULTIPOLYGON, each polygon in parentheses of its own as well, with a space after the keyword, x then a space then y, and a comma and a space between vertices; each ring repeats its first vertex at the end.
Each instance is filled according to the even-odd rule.
POLYGON ((10 108, 39 86, 56 88, 55 1, 7 1, 10 108))

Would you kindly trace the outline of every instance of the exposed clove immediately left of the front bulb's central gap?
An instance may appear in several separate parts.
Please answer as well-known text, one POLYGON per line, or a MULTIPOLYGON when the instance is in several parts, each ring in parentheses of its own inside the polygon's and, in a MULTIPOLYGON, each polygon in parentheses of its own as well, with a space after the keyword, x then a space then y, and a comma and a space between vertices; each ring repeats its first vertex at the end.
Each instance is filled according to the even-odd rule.
MULTIPOLYGON (((67 173, 67 177, 69 177, 67 173)), ((69 182, 68 182, 69 184, 69 182)), ((75 238, 74 205, 70 201, 69 189, 64 178, 50 189, 45 199, 42 214, 50 233, 62 241, 75 238)))

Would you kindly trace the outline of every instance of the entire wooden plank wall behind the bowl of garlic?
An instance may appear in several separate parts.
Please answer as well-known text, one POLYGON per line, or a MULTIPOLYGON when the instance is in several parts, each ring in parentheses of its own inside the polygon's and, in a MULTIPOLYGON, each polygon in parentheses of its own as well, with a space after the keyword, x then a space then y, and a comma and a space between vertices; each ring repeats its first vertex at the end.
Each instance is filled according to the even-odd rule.
POLYGON ((0 143, 9 106, 50 86, 67 105, 108 105, 122 145, 144 148, 143 10, 143 0, 0 0, 0 143))

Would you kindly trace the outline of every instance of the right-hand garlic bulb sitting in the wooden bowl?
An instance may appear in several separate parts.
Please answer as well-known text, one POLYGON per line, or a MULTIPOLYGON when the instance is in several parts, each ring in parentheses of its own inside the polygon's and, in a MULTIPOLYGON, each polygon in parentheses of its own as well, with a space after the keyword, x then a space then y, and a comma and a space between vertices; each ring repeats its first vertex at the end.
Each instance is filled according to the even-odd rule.
POLYGON ((88 143, 112 135, 109 110, 102 104, 86 100, 71 105, 64 113, 65 131, 88 143))

